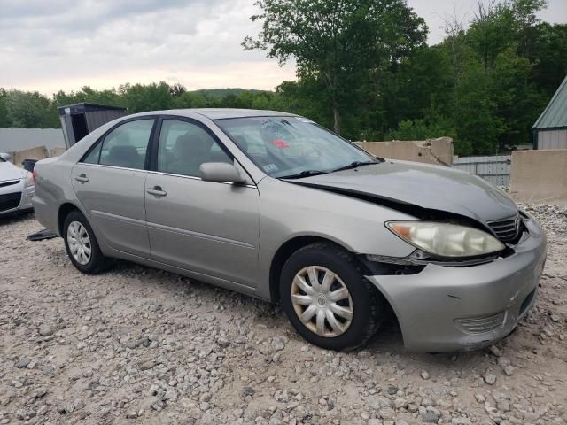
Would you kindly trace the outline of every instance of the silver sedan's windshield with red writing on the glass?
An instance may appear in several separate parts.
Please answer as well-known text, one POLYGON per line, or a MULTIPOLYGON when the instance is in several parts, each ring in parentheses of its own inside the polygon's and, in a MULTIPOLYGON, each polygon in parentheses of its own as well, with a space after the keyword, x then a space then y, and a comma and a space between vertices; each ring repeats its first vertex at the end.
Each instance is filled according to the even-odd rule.
POLYGON ((215 120, 217 126, 266 174, 301 177, 353 163, 377 162, 338 135, 301 117, 215 120))

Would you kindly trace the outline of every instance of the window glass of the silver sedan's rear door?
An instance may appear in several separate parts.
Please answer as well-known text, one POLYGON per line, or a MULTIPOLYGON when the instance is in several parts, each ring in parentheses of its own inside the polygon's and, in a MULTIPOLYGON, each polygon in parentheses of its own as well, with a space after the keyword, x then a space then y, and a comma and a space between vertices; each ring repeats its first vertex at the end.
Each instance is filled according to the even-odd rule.
POLYGON ((143 170, 153 123, 135 120, 114 128, 82 162, 143 170))

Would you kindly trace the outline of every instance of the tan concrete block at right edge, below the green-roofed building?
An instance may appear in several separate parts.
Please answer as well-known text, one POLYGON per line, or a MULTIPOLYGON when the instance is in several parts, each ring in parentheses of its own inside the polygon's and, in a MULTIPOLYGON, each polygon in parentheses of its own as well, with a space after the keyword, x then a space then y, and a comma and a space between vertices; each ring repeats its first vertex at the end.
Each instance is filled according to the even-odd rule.
POLYGON ((519 202, 567 205, 567 149, 513 151, 510 194, 519 202))

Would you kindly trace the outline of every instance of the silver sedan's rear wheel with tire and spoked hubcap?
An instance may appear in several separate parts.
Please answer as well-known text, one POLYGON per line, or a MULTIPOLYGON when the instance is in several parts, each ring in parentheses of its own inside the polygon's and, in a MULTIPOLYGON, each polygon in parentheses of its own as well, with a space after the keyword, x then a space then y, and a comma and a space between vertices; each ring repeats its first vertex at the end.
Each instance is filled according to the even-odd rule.
POLYGON ((89 221, 82 213, 69 213, 62 230, 67 255, 79 271, 84 274, 97 274, 109 266, 110 259, 100 251, 89 221))

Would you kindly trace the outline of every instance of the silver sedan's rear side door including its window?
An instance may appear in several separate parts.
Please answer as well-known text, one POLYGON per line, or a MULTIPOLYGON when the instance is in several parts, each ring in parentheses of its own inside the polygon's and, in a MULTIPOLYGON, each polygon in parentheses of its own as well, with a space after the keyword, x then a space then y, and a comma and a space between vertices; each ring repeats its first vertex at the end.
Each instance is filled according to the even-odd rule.
POLYGON ((144 184, 148 145, 156 120, 128 120, 106 134, 74 166, 77 198, 97 236, 114 250, 149 257, 144 184))

